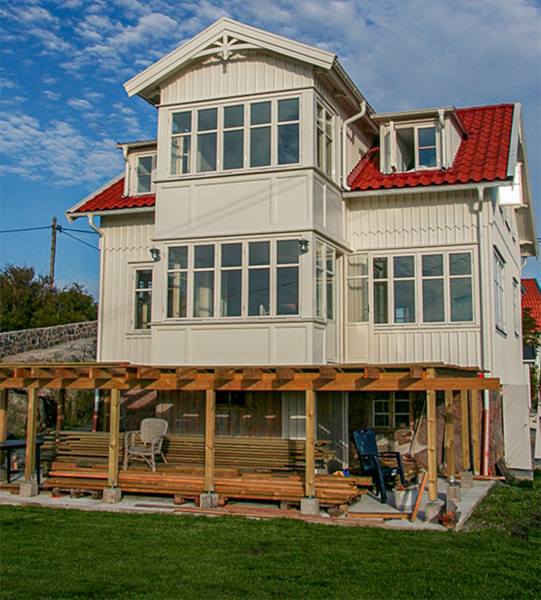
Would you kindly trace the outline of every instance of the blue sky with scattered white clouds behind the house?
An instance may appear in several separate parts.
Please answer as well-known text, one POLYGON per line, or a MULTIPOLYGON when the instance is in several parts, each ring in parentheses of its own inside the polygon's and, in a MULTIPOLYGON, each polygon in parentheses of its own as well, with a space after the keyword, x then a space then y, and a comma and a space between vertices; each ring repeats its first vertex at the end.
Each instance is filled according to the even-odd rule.
MULTIPOLYGON (((64 212, 124 168, 117 141, 156 137, 123 83, 221 16, 338 55, 379 112, 520 102, 541 232, 541 16, 534 0, 0 0, 0 230, 64 212)), ((70 232, 96 246, 96 236, 70 232)), ((60 285, 96 294, 98 252, 59 234, 60 285)), ((0 236, 0 259, 47 274, 50 230, 0 236)), ((528 259, 525 277, 540 277, 528 259)))

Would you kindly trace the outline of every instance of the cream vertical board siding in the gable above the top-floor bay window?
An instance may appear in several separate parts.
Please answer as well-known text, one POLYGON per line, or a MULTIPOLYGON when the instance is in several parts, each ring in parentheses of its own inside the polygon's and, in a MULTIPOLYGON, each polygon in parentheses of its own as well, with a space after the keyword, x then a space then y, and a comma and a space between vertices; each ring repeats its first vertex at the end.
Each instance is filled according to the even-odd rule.
POLYGON ((312 68, 308 65, 249 50, 226 62, 210 57, 201 60, 197 66, 190 66, 161 87, 161 105, 308 86, 313 86, 312 68))

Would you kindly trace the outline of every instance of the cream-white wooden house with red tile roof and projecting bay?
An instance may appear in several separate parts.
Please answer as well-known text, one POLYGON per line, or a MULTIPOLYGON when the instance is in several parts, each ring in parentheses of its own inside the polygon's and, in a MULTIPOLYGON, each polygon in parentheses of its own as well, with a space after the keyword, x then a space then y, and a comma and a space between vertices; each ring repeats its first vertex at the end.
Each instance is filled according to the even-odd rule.
MULTIPOLYGON (((118 144, 124 173, 67 212, 101 236, 99 361, 473 368, 500 378, 505 458, 531 470, 519 104, 376 114, 334 54, 226 18, 124 87, 157 139, 118 144)), ((317 399, 343 464, 355 394, 317 399)), ((271 435, 304 437, 299 399, 281 392, 271 435)), ((365 400, 364 424, 413 428, 409 392, 365 400)))

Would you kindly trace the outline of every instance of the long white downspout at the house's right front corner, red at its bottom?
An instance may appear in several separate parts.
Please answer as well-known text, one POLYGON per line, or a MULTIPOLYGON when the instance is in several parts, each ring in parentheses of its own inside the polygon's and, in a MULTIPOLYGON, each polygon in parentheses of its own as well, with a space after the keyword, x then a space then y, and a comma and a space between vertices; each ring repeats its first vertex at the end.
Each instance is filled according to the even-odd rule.
MULTIPOLYGON (((486 372, 490 368, 489 364, 489 319, 487 315, 487 264, 484 253, 485 244, 485 233, 484 233, 484 219, 483 219, 483 200, 484 200, 484 187, 477 188, 477 197, 479 201, 477 213, 477 243, 479 246, 479 281, 480 281, 480 295, 481 295, 481 369, 486 372)), ((482 443, 482 461, 481 470, 483 475, 489 474, 489 444, 491 440, 490 436, 490 416, 491 416, 491 402, 488 390, 482 390, 482 423, 483 423, 483 443, 482 443)))

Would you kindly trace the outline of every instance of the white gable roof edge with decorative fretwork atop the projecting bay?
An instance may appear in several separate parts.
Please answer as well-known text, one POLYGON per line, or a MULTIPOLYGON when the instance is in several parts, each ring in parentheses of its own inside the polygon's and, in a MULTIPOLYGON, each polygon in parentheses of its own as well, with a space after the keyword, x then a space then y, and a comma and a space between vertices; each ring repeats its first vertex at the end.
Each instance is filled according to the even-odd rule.
MULTIPOLYGON (((186 68, 190 62, 218 53, 227 59, 232 52, 251 49, 269 50, 326 70, 330 70, 336 60, 332 52, 222 17, 177 50, 173 50, 149 68, 145 68, 139 75, 132 77, 124 84, 124 88, 130 97, 137 94, 147 102, 155 104, 160 84, 182 68, 186 68)), ((351 80, 348 84, 350 83, 351 80)), ((359 93, 356 87, 355 91, 359 93)))

